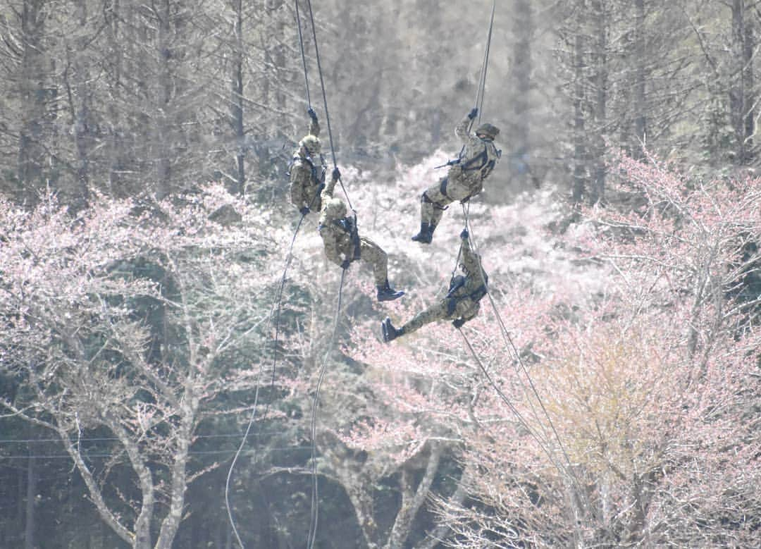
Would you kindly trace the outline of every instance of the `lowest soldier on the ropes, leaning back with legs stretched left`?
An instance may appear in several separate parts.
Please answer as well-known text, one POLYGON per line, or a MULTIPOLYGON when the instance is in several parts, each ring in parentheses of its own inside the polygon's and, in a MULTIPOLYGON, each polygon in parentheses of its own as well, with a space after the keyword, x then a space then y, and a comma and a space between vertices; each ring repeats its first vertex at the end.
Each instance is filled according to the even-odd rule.
POLYGON ((425 324, 448 319, 454 327, 459 328, 478 314, 481 298, 486 295, 486 285, 489 276, 483 272, 481 257, 470 249, 468 231, 460 233, 463 246, 463 263, 460 265, 465 276, 455 276, 449 285, 449 292, 435 305, 416 314, 411 321, 400 328, 391 324, 390 318, 385 318, 381 324, 383 340, 388 343, 397 337, 411 334, 425 324))

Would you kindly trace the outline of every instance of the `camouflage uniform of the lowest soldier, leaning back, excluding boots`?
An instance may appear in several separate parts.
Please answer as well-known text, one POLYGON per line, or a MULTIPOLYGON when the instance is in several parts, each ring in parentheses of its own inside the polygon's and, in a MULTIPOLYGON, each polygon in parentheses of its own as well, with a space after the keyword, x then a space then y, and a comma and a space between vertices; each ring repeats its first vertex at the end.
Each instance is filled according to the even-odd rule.
POLYGON ((441 320, 454 320, 462 318, 470 321, 475 318, 481 308, 479 289, 486 286, 480 265, 479 254, 470 249, 470 241, 463 238, 463 266, 467 272, 465 283, 450 296, 442 298, 435 305, 416 314, 409 322, 400 327, 403 334, 410 334, 425 324, 441 320))

